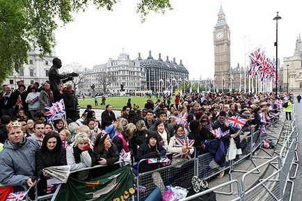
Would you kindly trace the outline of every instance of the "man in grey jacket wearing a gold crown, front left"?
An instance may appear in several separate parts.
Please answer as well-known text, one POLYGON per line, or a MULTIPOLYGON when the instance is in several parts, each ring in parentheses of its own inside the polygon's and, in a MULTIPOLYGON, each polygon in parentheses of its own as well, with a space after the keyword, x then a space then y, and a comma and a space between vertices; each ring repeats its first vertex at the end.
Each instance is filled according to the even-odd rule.
POLYGON ((8 125, 8 139, 0 153, 0 183, 6 186, 34 186, 35 153, 38 143, 25 138, 22 125, 15 121, 8 125))

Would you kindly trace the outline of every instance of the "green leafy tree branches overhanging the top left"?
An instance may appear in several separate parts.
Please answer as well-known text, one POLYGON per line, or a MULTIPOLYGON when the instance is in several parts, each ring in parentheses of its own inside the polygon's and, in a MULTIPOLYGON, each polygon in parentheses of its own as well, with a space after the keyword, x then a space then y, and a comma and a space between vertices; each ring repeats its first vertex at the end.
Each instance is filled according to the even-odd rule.
MULTIPOLYGON (((137 0, 142 22, 150 11, 172 9, 169 0, 137 0)), ((113 10, 118 0, 0 0, 0 83, 28 62, 28 51, 51 54, 58 24, 72 22, 72 13, 97 8, 113 10)))

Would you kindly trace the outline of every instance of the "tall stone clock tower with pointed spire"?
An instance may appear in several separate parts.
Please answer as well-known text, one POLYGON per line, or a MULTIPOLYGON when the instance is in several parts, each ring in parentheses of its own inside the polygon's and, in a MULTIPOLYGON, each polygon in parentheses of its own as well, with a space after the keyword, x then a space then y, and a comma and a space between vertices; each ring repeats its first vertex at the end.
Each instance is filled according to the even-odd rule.
POLYGON ((214 26, 214 58, 215 76, 217 81, 216 89, 222 88, 222 77, 225 79, 223 89, 230 86, 230 29, 225 22, 225 15, 222 6, 218 13, 218 20, 214 26))

